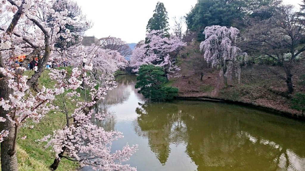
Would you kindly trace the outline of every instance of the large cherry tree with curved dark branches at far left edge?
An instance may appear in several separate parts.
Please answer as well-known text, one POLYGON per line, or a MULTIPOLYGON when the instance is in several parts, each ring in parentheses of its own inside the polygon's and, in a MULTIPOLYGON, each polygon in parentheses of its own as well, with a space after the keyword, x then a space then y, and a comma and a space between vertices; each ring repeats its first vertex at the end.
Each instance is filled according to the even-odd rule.
MULTIPOLYGON (((40 90, 37 95, 30 96, 26 92, 29 87, 33 87, 40 77, 45 64, 49 61, 52 54, 52 46, 54 40, 60 35, 54 33, 59 30, 60 26, 70 23, 71 20, 66 17, 67 11, 61 13, 51 10, 52 1, 1 1, 0 11, 1 18, 1 34, 0 34, 0 117, 2 123, 0 130, 6 136, 1 142, 1 167, 2 170, 17 170, 16 158, 16 138, 18 128, 27 118, 39 120, 48 108, 45 103, 52 99, 52 92, 40 90), (40 6, 40 8, 38 8, 40 6), (48 26, 45 22, 43 14, 52 15, 54 20, 52 26, 48 26), (16 56, 26 54, 23 63, 16 66, 16 56), (27 66, 33 58, 38 58, 38 65, 35 73, 28 80, 22 76, 23 66, 27 66), (17 68, 19 70, 17 70, 17 68), (13 74, 13 70, 15 70, 13 74), (25 83, 27 85, 25 85, 25 83), (47 96, 47 97, 44 97, 47 96), (29 97, 29 103, 23 98, 29 97), (40 100, 39 100, 40 99, 40 100), (39 103, 34 103, 38 100, 39 103), (35 105, 36 106, 33 106, 35 105), (37 112, 38 108, 42 108, 41 112, 37 112), (43 110, 45 109, 45 110, 43 110), (34 115, 34 116, 32 116, 34 115)), ((69 37, 69 33, 62 34, 69 37)))

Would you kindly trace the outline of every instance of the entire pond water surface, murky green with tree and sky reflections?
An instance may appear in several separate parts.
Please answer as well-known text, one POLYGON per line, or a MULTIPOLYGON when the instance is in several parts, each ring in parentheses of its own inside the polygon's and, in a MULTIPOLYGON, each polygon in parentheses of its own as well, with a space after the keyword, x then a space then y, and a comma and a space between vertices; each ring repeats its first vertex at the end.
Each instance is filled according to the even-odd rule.
POLYGON ((123 132, 113 150, 139 150, 127 162, 138 171, 305 171, 305 123, 253 108, 182 101, 145 103, 135 75, 117 77, 101 123, 123 132))

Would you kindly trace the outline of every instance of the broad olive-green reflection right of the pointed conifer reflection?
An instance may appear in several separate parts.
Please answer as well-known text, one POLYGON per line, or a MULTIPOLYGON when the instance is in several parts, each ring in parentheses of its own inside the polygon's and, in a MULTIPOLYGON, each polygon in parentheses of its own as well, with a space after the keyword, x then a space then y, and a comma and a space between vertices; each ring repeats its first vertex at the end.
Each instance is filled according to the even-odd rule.
POLYGON ((191 109, 181 106, 184 108, 182 112, 194 111, 193 117, 197 120, 185 120, 189 136, 186 151, 199 171, 305 169, 304 151, 296 155, 297 158, 302 156, 299 163, 289 161, 293 157, 286 154, 289 149, 302 142, 302 138, 304 140, 304 133, 296 131, 294 127, 282 127, 280 123, 276 123, 279 119, 277 116, 262 116, 260 111, 242 107, 235 106, 238 109, 232 110, 227 105, 217 106, 217 109, 206 106, 208 112, 203 113, 200 112, 203 106, 192 106, 191 109), (291 134, 302 138, 290 139, 291 134), (297 142, 289 144, 287 141, 297 142), (289 169, 282 168, 280 163, 284 161, 289 169), (297 169, 301 163, 303 168, 297 169))

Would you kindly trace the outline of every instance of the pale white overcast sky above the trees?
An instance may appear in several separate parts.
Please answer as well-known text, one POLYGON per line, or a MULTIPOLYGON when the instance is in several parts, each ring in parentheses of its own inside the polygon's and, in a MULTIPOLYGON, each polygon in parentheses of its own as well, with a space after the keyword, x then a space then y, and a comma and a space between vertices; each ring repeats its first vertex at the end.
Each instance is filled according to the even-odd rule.
MULTIPOLYGON (((138 43, 145 39, 148 20, 158 1, 163 2, 170 27, 174 16, 185 16, 197 0, 75 0, 87 19, 94 25, 87 30, 86 36, 119 37, 127 43, 138 43)), ((301 0, 284 0, 297 5, 301 0)))

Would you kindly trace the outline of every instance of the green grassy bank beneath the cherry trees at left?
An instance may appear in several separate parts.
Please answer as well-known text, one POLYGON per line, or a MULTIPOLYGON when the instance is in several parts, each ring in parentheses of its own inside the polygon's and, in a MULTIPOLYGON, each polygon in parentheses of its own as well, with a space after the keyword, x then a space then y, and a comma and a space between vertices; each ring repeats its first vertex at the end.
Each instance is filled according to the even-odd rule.
MULTIPOLYGON (((70 69, 70 68, 69 68, 70 69)), ((44 85, 45 87, 52 87, 54 81, 48 76, 49 70, 45 70, 39 79, 39 87, 44 85)), ((27 71, 26 75, 33 74, 33 71, 27 71)), ((72 103, 67 103, 67 107, 70 111, 74 110, 74 105, 72 103)), ((30 128, 20 128, 17 140, 17 159, 18 159, 18 170, 19 171, 48 171, 48 167, 53 163, 55 154, 51 152, 51 148, 44 148, 45 143, 39 144, 35 142, 37 139, 43 138, 43 136, 48 134, 53 134, 54 130, 63 129, 65 126, 66 116, 63 113, 48 113, 45 117, 38 123, 29 123, 28 125, 34 125, 33 129, 30 128), (20 139, 26 135, 25 140, 20 139)), ((58 171, 74 171, 78 168, 77 162, 72 162, 63 159, 58 171)), ((1 170, 1 168, 0 168, 1 170)))

